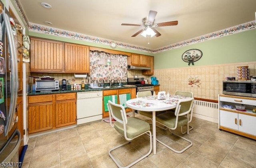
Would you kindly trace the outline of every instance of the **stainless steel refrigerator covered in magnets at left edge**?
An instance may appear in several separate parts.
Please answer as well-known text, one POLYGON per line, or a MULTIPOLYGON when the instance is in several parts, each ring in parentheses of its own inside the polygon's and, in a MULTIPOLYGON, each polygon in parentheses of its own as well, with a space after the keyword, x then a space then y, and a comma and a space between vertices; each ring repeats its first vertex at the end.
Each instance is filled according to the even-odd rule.
POLYGON ((16 113, 18 70, 15 29, 8 11, 0 3, 0 167, 19 167, 21 138, 16 113))

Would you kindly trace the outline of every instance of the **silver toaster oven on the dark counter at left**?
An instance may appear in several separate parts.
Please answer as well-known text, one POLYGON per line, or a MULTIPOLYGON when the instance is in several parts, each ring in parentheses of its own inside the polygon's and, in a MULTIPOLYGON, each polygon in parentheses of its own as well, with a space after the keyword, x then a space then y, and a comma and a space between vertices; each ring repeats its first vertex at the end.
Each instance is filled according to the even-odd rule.
POLYGON ((36 80, 36 92, 59 90, 59 80, 36 80))

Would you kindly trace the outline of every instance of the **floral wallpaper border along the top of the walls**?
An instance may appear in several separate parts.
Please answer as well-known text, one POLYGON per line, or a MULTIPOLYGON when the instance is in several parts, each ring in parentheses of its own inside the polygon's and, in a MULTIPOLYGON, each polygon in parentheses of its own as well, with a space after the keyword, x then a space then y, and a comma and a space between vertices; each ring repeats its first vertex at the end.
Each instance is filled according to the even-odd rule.
MULTIPOLYGON (((53 28, 53 27, 47 27, 47 26, 43 26, 43 25, 29 23, 28 19, 26 18, 26 14, 25 14, 19 0, 14 0, 14 3, 16 4, 17 8, 19 9, 19 12, 20 12, 22 18, 25 20, 26 24, 28 25, 29 31, 34 31, 34 32, 37 32, 37 33, 44 33, 44 34, 49 34, 49 35, 55 35, 55 36, 61 36, 61 37, 67 37, 67 38, 77 39, 77 40, 82 40, 82 41, 90 41, 90 42, 93 42, 93 43, 100 43, 100 44, 106 44, 106 45, 110 45, 110 43, 113 42, 113 40, 109 40, 109 39, 102 39, 100 37, 93 37, 93 36, 80 34, 80 33, 72 32, 72 31, 66 31, 66 30, 62 30, 62 29, 56 29, 56 28, 53 28)), ((247 23, 236 25, 234 27, 229 27, 229 28, 226 28, 226 29, 223 29, 223 30, 220 30, 220 31, 216 31, 216 32, 213 32, 213 33, 209 33, 209 34, 206 34, 206 35, 195 37, 193 39, 188 39, 186 41, 181 41, 181 42, 178 42, 178 43, 174 43, 174 44, 171 44, 171 45, 167 45, 165 47, 160 47, 158 49, 149 49, 149 48, 140 47, 140 46, 137 46, 137 45, 121 43, 121 42, 118 42, 118 41, 114 41, 114 42, 116 43, 116 45, 118 47, 122 47, 122 48, 126 48, 126 49, 144 51, 144 52, 148 52, 148 53, 160 53, 160 52, 163 52, 163 51, 168 51, 168 50, 171 50, 171 49, 184 47, 186 45, 192 45, 192 44, 195 44, 195 43, 200 43, 200 42, 208 41, 208 40, 211 40, 211 39, 224 37, 226 35, 232 35, 232 34, 235 34, 235 33, 240 33, 242 31, 247 31, 247 30, 250 30, 250 29, 256 29, 256 22, 255 21, 250 21, 250 22, 247 22, 247 23)))

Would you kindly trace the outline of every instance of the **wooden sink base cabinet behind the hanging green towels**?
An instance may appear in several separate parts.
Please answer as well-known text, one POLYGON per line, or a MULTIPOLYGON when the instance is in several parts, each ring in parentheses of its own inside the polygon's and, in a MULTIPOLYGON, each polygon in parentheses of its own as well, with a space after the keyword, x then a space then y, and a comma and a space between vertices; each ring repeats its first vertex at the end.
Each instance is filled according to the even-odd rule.
MULTIPOLYGON (((103 98, 104 96, 112 96, 116 95, 117 103, 120 104, 119 95, 120 94, 127 94, 130 93, 131 99, 136 98, 136 88, 126 88, 126 89, 116 89, 116 90, 103 90, 103 98)), ((109 113, 108 110, 105 110, 104 107, 104 100, 102 101, 102 117, 108 117, 109 113)), ((132 109, 126 108, 125 111, 131 111, 132 109)))

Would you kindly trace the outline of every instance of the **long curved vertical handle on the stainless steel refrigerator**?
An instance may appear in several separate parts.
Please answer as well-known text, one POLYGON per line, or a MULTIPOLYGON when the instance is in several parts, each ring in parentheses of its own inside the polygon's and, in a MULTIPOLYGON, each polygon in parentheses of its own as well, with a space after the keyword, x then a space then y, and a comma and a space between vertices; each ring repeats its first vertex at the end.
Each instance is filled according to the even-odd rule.
MULTIPOLYGON (((10 19, 9 16, 3 12, 3 20, 6 25, 6 34, 8 38, 8 46, 9 46, 9 53, 10 53, 10 59, 11 59, 11 72, 12 74, 18 74, 17 70, 17 57, 16 57, 16 49, 14 45, 14 38, 12 33, 12 27, 10 25, 10 19)), ((18 77, 17 75, 11 75, 10 78, 11 83, 11 94, 10 94, 10 105, 9 105, 9 113, 7 117, 7 123, 6 127, 4 129, 4 135, 7 136, 10 129, 12 128, 12 121, 15 113, 15 107, 17 103, 17 94, 18 94, 18 77)))

